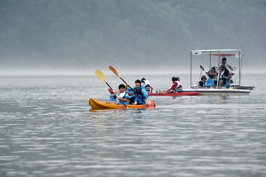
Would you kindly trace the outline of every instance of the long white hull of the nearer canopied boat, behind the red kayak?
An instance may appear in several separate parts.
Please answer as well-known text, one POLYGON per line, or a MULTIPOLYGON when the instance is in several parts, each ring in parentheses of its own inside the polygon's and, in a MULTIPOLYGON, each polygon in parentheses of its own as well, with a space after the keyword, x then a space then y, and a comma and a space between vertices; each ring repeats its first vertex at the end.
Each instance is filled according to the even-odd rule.
POLYGON ((199 95, 249 95, 244 89, 183 89, 183 91, 196 91, 199 95))

